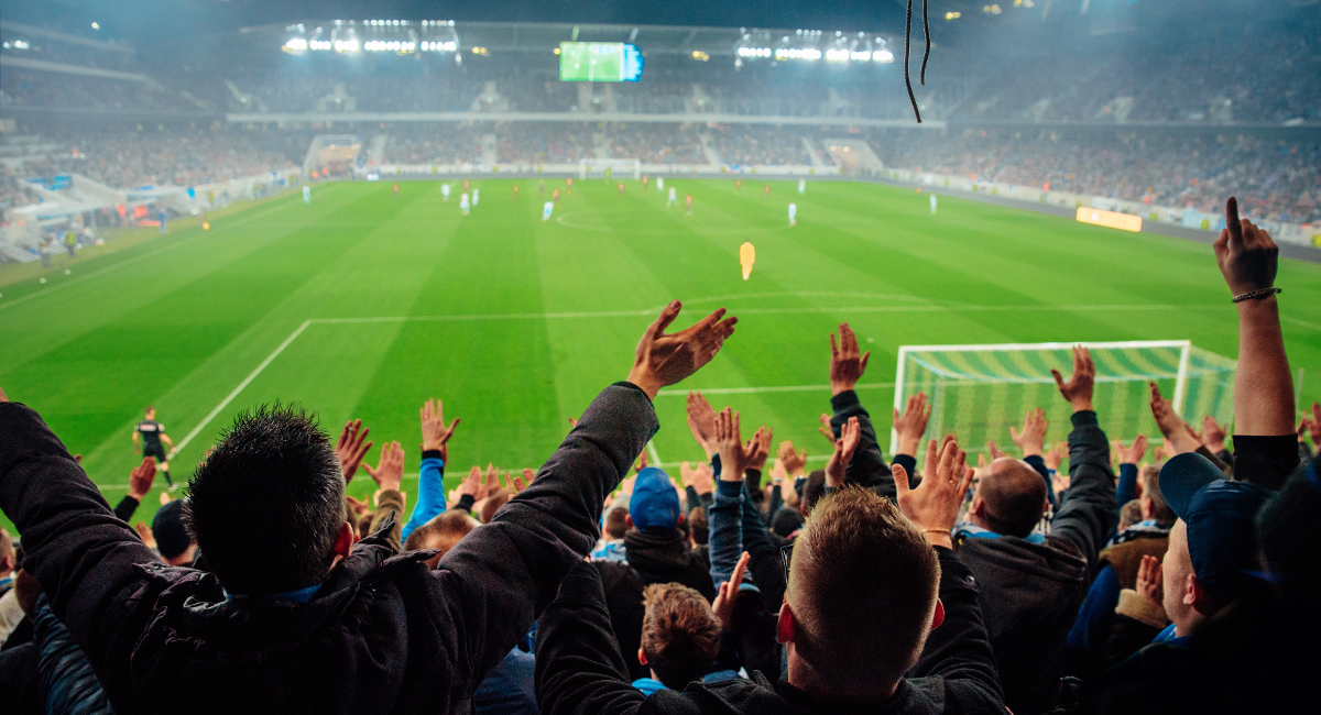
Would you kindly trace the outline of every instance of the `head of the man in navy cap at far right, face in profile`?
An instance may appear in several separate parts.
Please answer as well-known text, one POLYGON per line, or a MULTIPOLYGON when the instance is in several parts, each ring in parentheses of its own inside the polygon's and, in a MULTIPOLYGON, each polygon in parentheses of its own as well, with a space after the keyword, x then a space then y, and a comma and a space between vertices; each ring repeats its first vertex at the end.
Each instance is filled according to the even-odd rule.
POLYGON ((1178 521, 1169 530, 1165 613, 1180 636, 1258 586, 1254 518, 1271 492, 1225 479, 1210 459, 1186 452, 1160 470, 1160 488, 1178 521))

